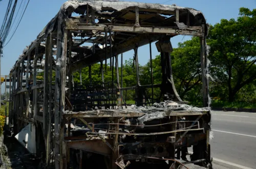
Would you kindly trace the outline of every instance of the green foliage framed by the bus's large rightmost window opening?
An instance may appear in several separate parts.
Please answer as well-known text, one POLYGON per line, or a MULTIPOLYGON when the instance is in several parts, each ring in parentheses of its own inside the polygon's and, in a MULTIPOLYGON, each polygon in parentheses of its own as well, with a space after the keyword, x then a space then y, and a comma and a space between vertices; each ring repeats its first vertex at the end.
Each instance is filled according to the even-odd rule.
POLYGON ((202 78, 199 38, 179 43, 171 56, 174 81, 181 99, 195 100, 200 97, 202 78))

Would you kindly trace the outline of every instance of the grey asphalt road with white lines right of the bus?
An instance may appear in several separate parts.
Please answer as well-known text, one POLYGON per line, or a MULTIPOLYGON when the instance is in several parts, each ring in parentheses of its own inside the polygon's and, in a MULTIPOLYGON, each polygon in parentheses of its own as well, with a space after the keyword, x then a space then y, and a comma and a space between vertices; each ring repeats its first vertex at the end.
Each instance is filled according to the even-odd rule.
POLYGON ((256 113, 212 111, 211 114, 214 131, 211 155, 216 158, 214 161, 256 168, 256 113))

